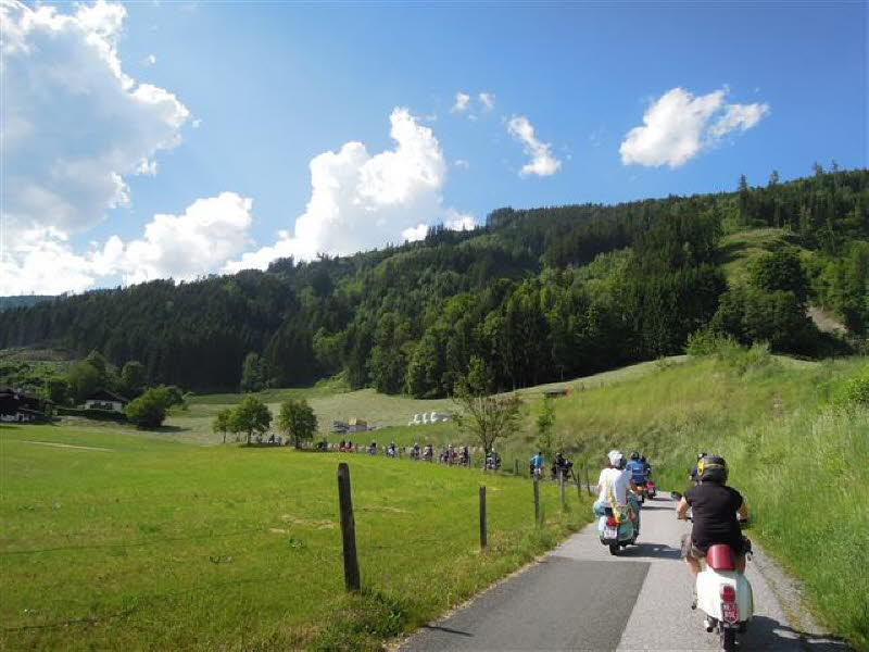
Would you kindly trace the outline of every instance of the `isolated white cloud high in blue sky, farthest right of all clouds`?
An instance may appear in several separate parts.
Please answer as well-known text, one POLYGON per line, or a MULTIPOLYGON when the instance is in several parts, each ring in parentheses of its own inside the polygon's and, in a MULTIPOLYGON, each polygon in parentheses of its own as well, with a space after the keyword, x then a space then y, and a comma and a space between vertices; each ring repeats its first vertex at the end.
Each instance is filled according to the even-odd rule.
POLYGON ((643 115, 643 125, 625 137, 619 152, 625 165, 679 167, 725 136, 754 127, 769 113, 769 105, 725 104, 722 88, 694 96, 682 88, 668 90, 643 115))

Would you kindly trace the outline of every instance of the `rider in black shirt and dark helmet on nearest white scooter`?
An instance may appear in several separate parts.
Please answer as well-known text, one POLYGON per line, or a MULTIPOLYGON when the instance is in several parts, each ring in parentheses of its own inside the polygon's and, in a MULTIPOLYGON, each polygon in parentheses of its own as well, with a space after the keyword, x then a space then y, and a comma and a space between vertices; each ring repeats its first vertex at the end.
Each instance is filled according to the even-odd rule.
POLYGON ((739 491, 725 485, 727 462, 723 457, 707 455, 697 463, 698 484, 691 487, 676 507, 677 518, 684 518, 691 507, 694 527, 691 535, 682 537, 682 559, 691 575, 700 574, 700 560, 714 543, 727 543, 735 554, 736 570, 745 572, 745 550, 736 519, 747 518, 748 509, 739 491))

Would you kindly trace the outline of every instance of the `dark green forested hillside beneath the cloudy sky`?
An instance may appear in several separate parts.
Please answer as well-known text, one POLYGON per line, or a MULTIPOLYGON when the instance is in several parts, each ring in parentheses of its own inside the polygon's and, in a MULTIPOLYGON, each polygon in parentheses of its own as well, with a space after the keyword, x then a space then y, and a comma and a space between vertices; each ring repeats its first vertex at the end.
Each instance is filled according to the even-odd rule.
POLYGON ((816 166, 729 193, 499 209, 475 231, 433 228, 402 247, 16 308, 0 315, 0 347, 99 350, 190 389, 344 372, 353 388, 434 398, 475 358, 484 389, 513 389, 681 352, 698 330, 843 350, 807 304, 865 337, 868 279, 869 172, 816 166), (722 236, 760 227, 784 237, 729 283, 722 236))

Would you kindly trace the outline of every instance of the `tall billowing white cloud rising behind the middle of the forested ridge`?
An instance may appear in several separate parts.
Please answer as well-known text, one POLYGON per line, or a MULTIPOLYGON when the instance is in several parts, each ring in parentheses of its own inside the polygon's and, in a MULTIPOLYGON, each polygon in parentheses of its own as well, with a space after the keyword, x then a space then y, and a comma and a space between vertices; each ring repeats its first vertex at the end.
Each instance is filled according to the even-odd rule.
POLYGON ((446 163, 431 128, 403 108, 395 108, 389 120, 394 149, 371 156, 362 142, 351 141, 314 156, 311 198, 292 235, 281 231, 274 244, 245 253, 225 269, 264 269, 290 255, 311 260, 318 253, 354 253, 408 239, 420 233, 420 225, 454 218, 455 212, 442 205, 446 163))

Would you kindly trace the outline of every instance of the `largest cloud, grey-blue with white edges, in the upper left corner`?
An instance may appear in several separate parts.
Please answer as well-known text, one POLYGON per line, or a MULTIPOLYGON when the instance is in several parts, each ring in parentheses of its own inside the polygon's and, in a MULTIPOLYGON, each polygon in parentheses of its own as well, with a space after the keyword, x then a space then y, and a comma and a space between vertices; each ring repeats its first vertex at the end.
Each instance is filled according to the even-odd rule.
POLYGON ((123 72, 122 4, 73 7, 0 0, 0 218, 15 231, 91 227, 129 200, 125 176, 155 172, 154 155, 178 145, 189 116, 173 93, 123 72))

